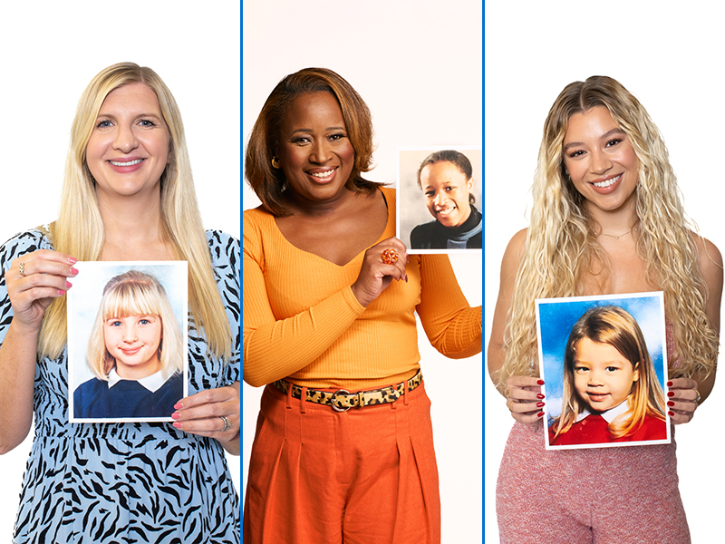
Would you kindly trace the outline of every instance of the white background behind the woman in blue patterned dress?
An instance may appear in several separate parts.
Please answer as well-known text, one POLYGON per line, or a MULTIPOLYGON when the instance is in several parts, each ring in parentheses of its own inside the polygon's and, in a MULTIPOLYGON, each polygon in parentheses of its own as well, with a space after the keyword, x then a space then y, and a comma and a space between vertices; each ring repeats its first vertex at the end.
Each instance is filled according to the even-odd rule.
MULTIPOLYGON (((237 2, 16 2, 2 12, 3 241, 55 219, 78 99, 96 73, 121 61, 150 66, 167 83, 205 227, 240 236, 237 2)), ((0 542, 11 539, 30 443, 0 457, 0 542)), ((227 459, 238 489, 239 458, 227 459)))

